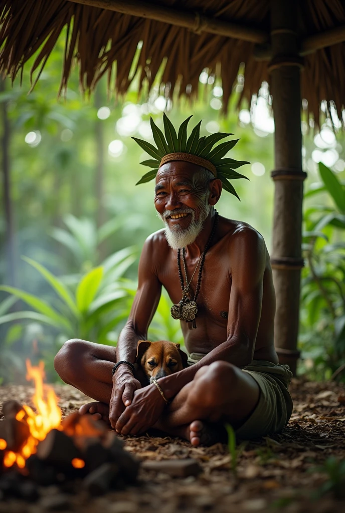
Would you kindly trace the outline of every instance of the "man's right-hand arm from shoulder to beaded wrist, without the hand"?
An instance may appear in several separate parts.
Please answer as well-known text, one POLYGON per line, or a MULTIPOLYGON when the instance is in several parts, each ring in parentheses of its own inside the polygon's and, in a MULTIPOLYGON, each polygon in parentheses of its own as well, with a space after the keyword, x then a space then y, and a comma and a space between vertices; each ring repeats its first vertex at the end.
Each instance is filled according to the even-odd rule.
POLYGON ((227 339, 195 365, 160 379, 159 384, 167 399, 175 397, 204 365, 223 360, 244 367, 253 359, 261 317, 266 247, 261 235, 252 228, 241 228, 232 235, 232 239, 227 339))

